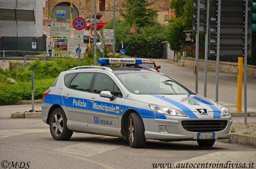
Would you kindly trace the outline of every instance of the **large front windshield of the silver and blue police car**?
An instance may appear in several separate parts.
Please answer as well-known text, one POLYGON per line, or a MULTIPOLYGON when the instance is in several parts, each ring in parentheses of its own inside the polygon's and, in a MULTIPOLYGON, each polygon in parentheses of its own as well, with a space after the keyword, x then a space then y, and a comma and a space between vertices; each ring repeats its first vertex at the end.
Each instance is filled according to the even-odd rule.
POLYGON ((116 74, 129 92, 141 95, 189 95, 194 94, 175 80, 151 73, 116 74))

